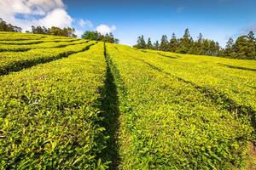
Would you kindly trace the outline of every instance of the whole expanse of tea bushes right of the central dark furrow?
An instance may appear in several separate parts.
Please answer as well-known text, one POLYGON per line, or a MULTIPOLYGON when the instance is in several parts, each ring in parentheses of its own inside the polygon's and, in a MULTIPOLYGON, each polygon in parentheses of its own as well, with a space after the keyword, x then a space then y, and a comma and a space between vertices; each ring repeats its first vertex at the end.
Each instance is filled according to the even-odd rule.
POLYGON ((241 167, 254 140, 256 92, 246 87, 253 71, 225 68, 222 59, 107 47, 121 101, 120 169, 241 167), (231 92, 237 88, 241 94, 231 92))

